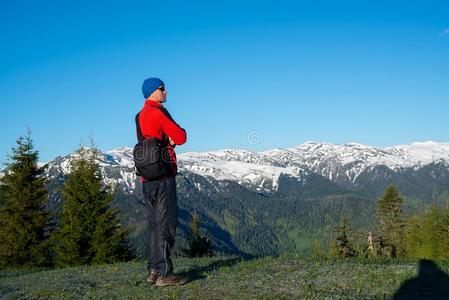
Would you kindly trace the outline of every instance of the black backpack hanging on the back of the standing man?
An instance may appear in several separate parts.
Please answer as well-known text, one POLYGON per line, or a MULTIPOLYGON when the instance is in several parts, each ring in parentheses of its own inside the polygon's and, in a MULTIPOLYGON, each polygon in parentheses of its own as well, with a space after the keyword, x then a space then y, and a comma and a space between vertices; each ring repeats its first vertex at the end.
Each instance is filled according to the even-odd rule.
POLYGON ((162 140, 156 137, 145 139, 140 129, 139 115, 140 113, 136 115, 138 143, 133 150, 136 175, 143 176, 148 181, 171 175, 173 161, 167 147, 167 137, 162 134, 162 140))

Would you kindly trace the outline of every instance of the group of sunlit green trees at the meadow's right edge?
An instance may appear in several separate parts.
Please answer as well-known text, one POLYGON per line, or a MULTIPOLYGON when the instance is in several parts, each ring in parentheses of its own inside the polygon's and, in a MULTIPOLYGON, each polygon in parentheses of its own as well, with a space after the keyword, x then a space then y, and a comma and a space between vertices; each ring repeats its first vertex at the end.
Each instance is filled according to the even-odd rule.
MULTIPOLYGON (((330 257, 385 257, 409 259, 449 259, 449 204, 426 205, 420 214, 406 215, 405 200, 391 185, 377 202, 377 229, 351 229, 343 217, 329 241, 330 257)), ((315 255, 324 256, 321 244, 315 255)))

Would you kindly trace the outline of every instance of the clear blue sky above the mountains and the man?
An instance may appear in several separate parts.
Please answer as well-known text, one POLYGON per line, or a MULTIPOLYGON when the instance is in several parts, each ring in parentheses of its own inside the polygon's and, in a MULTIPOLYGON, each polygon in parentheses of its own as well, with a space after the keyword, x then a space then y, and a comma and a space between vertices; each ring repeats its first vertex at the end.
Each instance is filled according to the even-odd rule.
POLYGON ((0 162, 135 144, 162 78, 177 148, 449 142, 447 1, 1 1, 0 162))

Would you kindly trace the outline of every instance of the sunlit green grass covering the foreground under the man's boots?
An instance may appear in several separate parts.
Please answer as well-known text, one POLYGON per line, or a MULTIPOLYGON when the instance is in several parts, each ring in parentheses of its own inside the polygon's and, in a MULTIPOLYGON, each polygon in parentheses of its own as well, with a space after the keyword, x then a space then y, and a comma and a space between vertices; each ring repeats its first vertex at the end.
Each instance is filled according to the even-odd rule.
MULTIPOLYGON (((386 299, 418 274, 418 263, 294 257, 175 258, 192 281, 148 285, 145 262, 0 272, 1 299, 386 299)), ((448 263, 438 267, 449 271, 448 263)), ((446 284, 446 286, 449 286, 446 284)), ((416 286, 420 289, 420 286, 416 286)))

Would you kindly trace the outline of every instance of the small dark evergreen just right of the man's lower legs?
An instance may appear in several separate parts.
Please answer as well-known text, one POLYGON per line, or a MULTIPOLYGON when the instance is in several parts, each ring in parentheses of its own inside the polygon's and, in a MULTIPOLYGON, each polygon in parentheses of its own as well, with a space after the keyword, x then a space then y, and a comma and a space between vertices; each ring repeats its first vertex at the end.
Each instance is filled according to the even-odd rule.
POLYGON ((196 211, 192 214, 192 223, 190 224, 191 236, 189 248, 184 253, 189 257, 212 256, 212 245, 210 239, 200 234, 200 216, 196 211))

